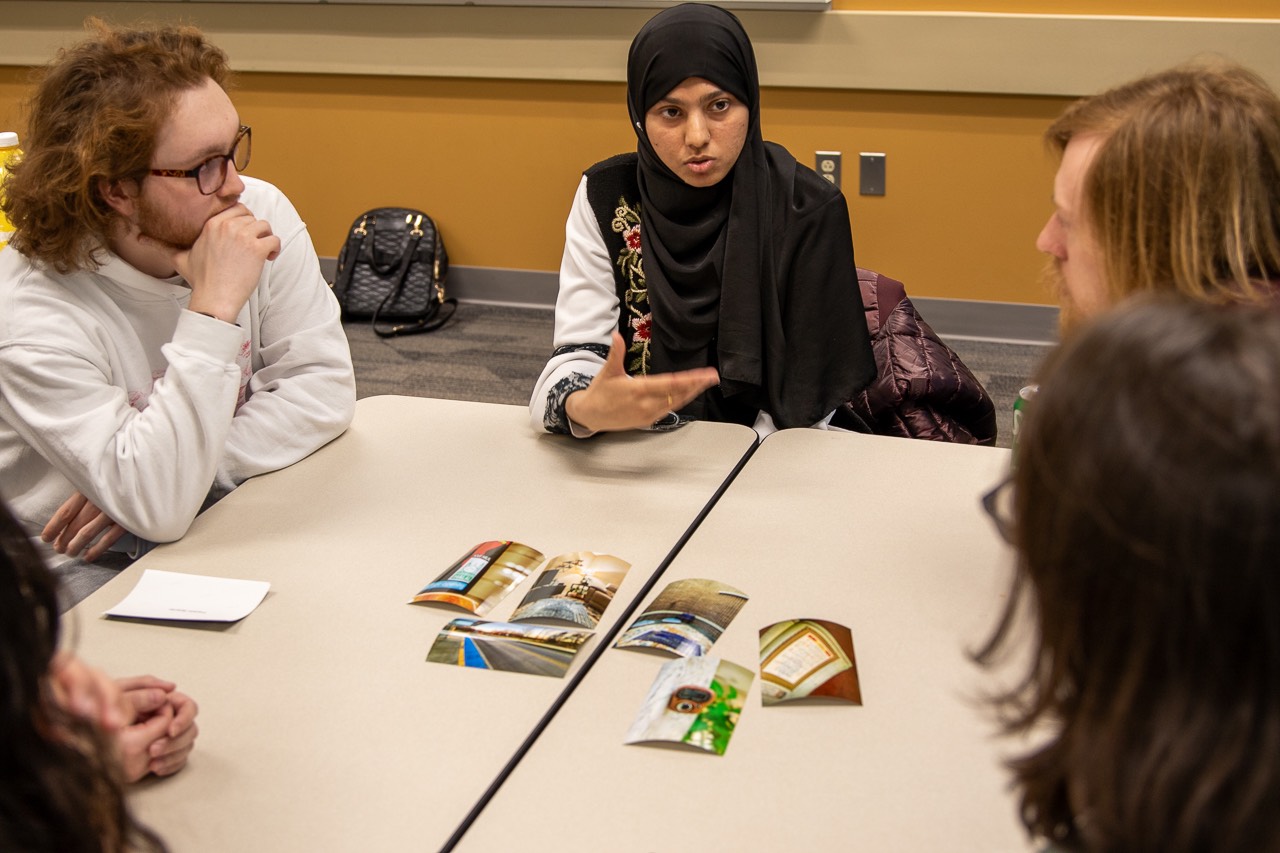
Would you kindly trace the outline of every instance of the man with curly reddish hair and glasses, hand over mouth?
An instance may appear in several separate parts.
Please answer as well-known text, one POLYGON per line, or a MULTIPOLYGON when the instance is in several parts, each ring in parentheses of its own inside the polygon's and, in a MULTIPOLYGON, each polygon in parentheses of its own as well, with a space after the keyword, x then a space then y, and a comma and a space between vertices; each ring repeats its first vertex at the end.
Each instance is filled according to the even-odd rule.
POLYGON ((44 69, 3 188, 3 492, 55 566, 182 537, 356 398, 306 225, 242 175, 225 54, 192 27, 90 27, 44 69))

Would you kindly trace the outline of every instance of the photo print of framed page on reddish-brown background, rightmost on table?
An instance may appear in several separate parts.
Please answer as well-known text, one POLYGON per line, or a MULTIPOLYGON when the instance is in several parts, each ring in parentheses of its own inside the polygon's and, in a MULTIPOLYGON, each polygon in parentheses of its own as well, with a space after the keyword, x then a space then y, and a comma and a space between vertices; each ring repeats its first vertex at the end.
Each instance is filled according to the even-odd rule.
POLYGON ((792 619, 760 629, 764 704, 808 697, 863 703, 852 633, 822 619, 792 619))

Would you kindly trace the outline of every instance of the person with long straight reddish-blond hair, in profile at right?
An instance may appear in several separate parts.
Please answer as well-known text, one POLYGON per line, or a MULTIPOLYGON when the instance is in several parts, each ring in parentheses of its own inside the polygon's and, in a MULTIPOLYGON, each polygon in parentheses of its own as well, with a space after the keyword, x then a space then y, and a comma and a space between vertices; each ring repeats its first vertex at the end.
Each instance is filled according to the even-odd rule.
POLYGON ((1134 293, 1271 301, 1280 282, 1280 97, 1256 73, 1198 61, 1073 104, 1044 134, 1061 156, 1051 256, 1061 327, 1134 293))

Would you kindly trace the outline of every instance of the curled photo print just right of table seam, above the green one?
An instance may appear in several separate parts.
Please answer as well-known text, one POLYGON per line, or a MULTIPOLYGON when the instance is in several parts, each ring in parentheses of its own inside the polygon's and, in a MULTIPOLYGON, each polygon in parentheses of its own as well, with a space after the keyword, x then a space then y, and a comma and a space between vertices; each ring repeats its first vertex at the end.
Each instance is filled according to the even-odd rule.
POLYGON ((718 580, 692 578, 667 584, 614 648, 655 648, 681 657, 699 657, 710 651, 748 596, 718 580))

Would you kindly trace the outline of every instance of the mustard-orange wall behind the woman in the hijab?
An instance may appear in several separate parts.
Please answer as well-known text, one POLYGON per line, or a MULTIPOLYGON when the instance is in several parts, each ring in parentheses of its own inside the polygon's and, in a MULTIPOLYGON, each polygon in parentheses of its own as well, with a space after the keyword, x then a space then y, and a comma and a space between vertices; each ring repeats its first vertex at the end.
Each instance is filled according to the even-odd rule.
MULTIPOLYGON (((1272 0, 1164 0, 1162 14, 1280 17, 1272 0)), ((837 9, 1139 14, 1142 0, 835 0, 837 9), (1105 6, 1105 9, 1103 9, 1105 6)), ((234 60, 234 56, 233 56, 234 60)), ((0 129, 22 129, 27 70, 0 67, 0 129)), ((335 255, 378 205, 435 216, 453 263, 554 270, 581 170, 634 146, 614 82, 243 73, 252 174, 278 183, 335 255)), ((859 263, 920 296, 1052 302, 1036 233, 1056 164, 1041 133, 1066 97, 771 87, 767 138, 801 161, 845 154, 859 263), (858 152, 887 156, 884 197, 856 195, 858 152)))

